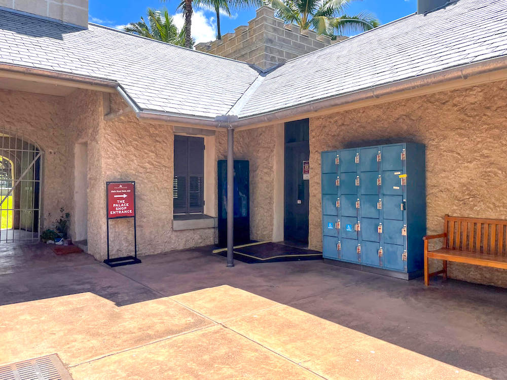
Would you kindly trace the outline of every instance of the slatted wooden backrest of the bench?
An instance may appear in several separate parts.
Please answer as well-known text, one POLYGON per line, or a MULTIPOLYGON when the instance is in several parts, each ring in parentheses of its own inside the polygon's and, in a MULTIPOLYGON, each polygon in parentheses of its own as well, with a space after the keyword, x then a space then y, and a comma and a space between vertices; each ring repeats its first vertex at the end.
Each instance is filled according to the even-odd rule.
POLYGON ((446 215, 446 248, 485 255, 507 256, 507 220, 446 215))

